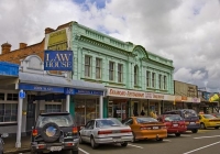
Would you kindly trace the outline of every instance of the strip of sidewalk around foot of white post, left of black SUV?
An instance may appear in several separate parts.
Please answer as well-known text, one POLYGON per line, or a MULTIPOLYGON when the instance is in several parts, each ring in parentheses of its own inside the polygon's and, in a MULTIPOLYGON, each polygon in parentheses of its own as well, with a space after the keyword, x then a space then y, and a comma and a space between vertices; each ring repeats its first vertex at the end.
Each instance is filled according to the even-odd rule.
POLYGON ((16 143, 16 136, 9 136, 3 139, 4 141, 4 154, 18 154, 18 153, 24 153, 24 152, 30 152, 30 136, 22 136, 21 138, 21 147, 16 148, 15 143, 16 143))

